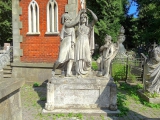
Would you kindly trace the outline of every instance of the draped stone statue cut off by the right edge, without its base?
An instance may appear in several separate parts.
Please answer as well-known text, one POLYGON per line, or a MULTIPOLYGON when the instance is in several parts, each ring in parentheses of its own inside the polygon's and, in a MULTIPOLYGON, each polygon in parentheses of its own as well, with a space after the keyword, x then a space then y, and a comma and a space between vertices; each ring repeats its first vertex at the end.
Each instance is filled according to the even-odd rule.
POLYGON ((146 89, 150 93, 160 94, 160 46, 153 48, 153 57, 147 62, 149 68, 149 80, 146 89))

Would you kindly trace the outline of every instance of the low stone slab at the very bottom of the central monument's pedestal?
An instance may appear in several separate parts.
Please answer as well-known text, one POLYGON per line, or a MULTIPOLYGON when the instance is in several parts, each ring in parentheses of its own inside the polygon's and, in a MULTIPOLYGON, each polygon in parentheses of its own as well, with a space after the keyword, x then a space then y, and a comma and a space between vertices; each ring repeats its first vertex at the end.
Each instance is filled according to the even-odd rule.
POLYGON ((68 114, 68 113, 81 113, 84 115, 94 115, 94 116, 99 116, 99 115, 105 115, 105 116, 110 116, 110 115, 118 115, 120 113, 119 110, 116 111, 111 111, 111 110, 101 110, 101 109, 55 109, 52 111, 47 111, 45 109, 42 110, 43 114, 47 114, 47 113, 52 113, 52 114, 59 114, 59 113, 63 113, 63 114, 68 114))

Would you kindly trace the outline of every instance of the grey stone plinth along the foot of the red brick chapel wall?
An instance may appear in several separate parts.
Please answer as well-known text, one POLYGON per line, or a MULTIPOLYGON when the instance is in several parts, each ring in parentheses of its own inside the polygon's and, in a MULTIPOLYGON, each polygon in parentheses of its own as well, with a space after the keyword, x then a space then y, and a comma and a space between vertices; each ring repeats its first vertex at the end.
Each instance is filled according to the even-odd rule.
MULTIPOLYGON (((51 71, 53 64, 47 63, 13 63, 12 66, 12 77, 13 78, 24 78, 26 83, 34 83, 48 80, 52 77, 51 71)), ((56 74, 60 71, 56 70, 56 74)))

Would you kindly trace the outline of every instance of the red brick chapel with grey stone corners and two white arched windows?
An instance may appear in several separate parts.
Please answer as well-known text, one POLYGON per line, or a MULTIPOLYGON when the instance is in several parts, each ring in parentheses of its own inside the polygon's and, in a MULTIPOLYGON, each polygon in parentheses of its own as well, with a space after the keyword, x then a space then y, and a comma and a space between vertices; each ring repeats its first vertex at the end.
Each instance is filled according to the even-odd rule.
POLYGON ((12 77, 44 81, 58 58, 61 17, 75 18, 82 0, 12 0, 12 77))

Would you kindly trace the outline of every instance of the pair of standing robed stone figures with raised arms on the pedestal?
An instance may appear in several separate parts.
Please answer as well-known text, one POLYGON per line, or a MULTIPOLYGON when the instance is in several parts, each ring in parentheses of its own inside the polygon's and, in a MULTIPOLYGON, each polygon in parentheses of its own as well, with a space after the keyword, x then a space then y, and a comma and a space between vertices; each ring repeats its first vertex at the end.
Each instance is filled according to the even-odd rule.
POLYGON ((53 66, 53 76, 56 68, 61 68, 62 74, 72 76, 72 66, 75 62, 76 75, 86 75, 91 69, 91 56, 94 51, 94 24, 97 16, 90 10, 81 9, 78 16, 72 20, 69 14, 62 16, 61 44, 58 60, 53 66), (86 12, 90 12, 93 20, 88 24, 86 12), (77 27, 77 30, 75 30, 77 27))

